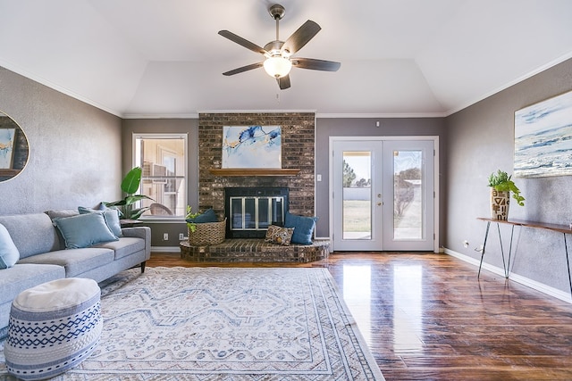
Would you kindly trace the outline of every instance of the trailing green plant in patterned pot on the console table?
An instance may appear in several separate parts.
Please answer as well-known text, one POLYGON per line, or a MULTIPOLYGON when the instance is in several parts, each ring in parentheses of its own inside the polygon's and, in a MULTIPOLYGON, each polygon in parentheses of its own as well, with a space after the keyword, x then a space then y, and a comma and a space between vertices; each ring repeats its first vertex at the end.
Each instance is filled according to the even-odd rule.
POLYGON ((491 187, 491 217, 492 219, 506 220, 509 215, 510 192, 517 200, 518 205, 525 205, 525 197, 520 195, 520 189, 512 181, 512 175, 503 170, 492 172, 489 176, 489 186, 491 187))

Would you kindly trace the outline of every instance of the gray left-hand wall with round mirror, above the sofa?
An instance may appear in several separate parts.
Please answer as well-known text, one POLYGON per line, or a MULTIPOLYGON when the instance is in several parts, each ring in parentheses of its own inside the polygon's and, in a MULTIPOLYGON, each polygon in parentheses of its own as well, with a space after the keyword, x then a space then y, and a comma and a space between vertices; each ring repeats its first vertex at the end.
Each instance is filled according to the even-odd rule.
POLYGON ((20 124, 29 162, 0 182, 0 214, 93 206, 121 195, 121 119, 0 68, 0 110, 20 124))

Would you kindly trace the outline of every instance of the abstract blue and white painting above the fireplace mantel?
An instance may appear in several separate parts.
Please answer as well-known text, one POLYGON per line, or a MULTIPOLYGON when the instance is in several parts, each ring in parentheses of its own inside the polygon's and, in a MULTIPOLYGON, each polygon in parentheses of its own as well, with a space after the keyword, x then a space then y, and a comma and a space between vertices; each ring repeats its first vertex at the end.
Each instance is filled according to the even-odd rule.
POLYGON ((224 126, 223 168, 282 168, 280 126, 224 126))

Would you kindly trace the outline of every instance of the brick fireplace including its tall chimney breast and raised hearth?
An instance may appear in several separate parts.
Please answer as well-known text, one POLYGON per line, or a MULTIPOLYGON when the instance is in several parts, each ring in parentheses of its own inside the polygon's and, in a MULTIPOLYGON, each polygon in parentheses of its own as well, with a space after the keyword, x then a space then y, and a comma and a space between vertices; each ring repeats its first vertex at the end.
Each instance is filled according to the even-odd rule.
MULTIPOLYGON (((199 113, 198 140, 199 210, 213 208, 219 219, 224 216, 228 222, 233 213, 225 211, 225 188, 286 188, 288 205, 284 211, 305 216, 315 215, 314 112, 199 113), (280 173, 265 171, 263 174, 253 174, 248 170, 231 170, 229 173, 221 170, 224 126, 281 126, 280 173)), ((270 201, 269 204, 271 203, 273 202, 270 201)), ((273 219, 273 216, 270 211, 268 220, 273 219)), ((246 217, 240 219, 240 223, 246 224, 246 217)), ((327 239, 315 239, 313 244, 308 245, 282 246, 266 243, 260 238, 243 237, 208 246, 182 243, 181 258, 205 262, 308 262, 327 259, 329 246, 327 239)))

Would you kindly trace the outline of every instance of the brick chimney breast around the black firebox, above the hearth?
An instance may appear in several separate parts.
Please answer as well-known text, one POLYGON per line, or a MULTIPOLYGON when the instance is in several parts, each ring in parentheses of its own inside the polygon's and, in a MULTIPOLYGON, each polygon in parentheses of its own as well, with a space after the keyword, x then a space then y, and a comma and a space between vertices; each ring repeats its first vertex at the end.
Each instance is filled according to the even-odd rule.
POLYGON ((225 187, 287 187, 290 213, 315 215, 314 112, 200 113, 198 139, 199 210, 213 208, 222 218, 225 187), (298 174, 252 176, 245 171, 244 176, 221 176, 211 173, 222 167, 223 126, 255 125, 282 127, 282 169, 298 169, 298 174))

